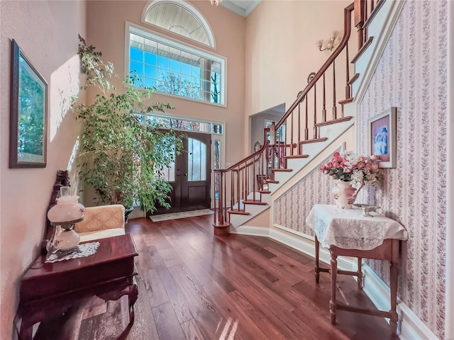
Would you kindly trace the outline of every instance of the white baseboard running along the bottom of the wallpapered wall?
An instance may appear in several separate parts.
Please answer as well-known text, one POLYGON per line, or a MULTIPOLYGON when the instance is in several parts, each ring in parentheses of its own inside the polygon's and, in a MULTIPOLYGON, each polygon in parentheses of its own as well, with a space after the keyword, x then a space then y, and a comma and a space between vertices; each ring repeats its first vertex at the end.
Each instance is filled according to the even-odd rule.
MULTIPOLYGON (((277 242, 290 246, 302 253, 314 257, 314 240, 306 237, 293 237, 284 232, 280 232, 276 229, 270 229, 265 227, 248 227, 241 226, 233 230, 232 233, 253 235, 253 236, 265 236, 275 239, 277 242)), ((324 263, 330 263, 331 256, 328 249, 320 249, 320 261, 324 263)), ((338 257, 338 268, 345 271, 355 271, 358 268, 358 263, 352 258, 339 256, 338 257)), ((367 266, 362 263, 362 270, 365 273, 364 278, 364 292, 373 302, 375 307, 379 310, 389 310, 389 287, 383 282, 383 280, 367 266)), ((410 308, 399 302, 397 305, 397 313, 399 319, 402 319, 400 324, 399 339, 401 340, 438 340, 437 336, 428 329, 416 314, 410 310, 410 308)), ((389 320, 387 319, 389 322, 389 320)))

